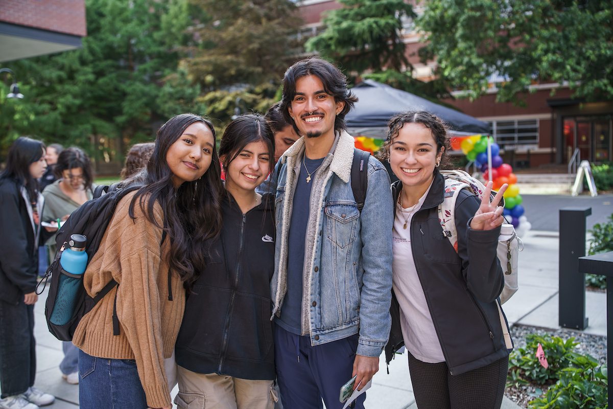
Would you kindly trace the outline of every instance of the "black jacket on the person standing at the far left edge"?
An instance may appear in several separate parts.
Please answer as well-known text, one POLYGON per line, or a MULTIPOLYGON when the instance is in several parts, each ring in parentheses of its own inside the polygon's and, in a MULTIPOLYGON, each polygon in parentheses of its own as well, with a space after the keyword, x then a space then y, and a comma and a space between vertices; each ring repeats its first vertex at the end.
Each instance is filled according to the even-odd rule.
MULTIPOLYGON (((36 289, 38 273, 38 243, 20 188, 16 180, 0 180, 0 299, 13 305, 36 289)), ((44 229, 40 234, 50 237, 44 229)))

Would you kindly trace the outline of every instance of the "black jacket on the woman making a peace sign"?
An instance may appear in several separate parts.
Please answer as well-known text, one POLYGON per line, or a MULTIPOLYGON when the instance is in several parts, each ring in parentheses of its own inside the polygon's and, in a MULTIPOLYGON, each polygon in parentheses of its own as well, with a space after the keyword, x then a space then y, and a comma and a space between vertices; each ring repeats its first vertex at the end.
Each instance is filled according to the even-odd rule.
MULTIPOLYGON (((455 202, 458 252, 443 234, 438 205, 444 199, 444 178, 435 170, 432 188, 411 220, 411 248, 428 310, 451 375, 491 364, 508 356, 496 299, 504 286, 496 256, 500 227, 470 228, 479 199, 463 189, 455 202)), ((392 185, 394 199, 402 182, 392 185)), ((403 345, 398 301, 392 291, 392 330, 387 362, 403 345)))

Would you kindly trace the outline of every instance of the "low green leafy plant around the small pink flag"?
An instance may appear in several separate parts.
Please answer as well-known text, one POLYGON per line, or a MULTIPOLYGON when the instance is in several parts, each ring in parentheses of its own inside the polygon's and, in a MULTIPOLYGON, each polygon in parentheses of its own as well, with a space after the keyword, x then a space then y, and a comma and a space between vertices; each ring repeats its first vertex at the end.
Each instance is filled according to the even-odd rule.
POLYGON ((534 380, 539 384, 544 384, 548 380, 557 380, 560 370, 568 367, 571 359, 578 354, 574 353, 575 346, 579 343, 574 342, 574 338, 564 341, 559 337, 550 335, 528 335, 526 337, 526 347, 519 348, 511 353, 509 357, 509 368, 520 370, 522 377, 534 380), (543 351, 549 366, 545 369, 536 357, 538 343, 543 346, 543 351))

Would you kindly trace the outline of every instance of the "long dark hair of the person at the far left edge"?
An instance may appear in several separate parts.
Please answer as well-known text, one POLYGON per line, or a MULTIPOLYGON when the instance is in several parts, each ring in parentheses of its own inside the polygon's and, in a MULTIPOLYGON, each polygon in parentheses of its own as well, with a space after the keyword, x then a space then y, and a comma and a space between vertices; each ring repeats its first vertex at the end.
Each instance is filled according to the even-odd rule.
POLYGON ((45 144, 41 140, 27 136, 18 137, 9 148, 6 169, 0 173, 0 181, 11 178, 26 186, 31 202, 36 202, 39 189, 38 181, 30 174, 30 165, 45 155, 45 144))

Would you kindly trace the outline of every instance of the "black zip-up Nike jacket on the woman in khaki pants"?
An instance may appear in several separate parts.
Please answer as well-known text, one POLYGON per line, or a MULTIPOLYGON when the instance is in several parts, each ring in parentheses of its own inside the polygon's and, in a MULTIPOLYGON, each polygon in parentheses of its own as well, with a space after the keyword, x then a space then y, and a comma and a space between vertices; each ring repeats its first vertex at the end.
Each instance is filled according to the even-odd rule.
POLYGON ((243 215, 226 194, 221 239, 194 283, 175 344, 177 364, 197 373, 275 379, 270 279, 275 267, 275 197, 243 215))

